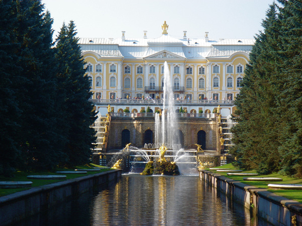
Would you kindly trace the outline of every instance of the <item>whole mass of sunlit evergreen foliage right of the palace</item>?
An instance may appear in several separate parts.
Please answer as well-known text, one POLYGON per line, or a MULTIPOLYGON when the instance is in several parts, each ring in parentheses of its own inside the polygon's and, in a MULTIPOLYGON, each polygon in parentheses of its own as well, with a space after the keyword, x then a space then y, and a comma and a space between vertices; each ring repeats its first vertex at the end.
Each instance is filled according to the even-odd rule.
POLYGON ((236 100, 237 165, 302 177, 302 5, 279 1, 267 11, 236 100))

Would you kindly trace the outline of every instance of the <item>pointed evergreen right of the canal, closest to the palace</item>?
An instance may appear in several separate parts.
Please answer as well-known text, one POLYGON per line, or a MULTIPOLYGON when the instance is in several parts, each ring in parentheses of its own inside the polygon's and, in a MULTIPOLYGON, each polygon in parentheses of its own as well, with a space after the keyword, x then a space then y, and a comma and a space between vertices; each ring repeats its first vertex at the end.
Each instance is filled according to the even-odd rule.
POLYGON ((232 153, 242 168, 260 173, 279 170, 278 125, 275 124, 276 78, 279 75, 278 43, 280 26, 277 6, 271 5, 263 21, 264 33, 256 37, 245 71, 243 87, 236 100, 239 124, 233 129, 236 147, 232 153))

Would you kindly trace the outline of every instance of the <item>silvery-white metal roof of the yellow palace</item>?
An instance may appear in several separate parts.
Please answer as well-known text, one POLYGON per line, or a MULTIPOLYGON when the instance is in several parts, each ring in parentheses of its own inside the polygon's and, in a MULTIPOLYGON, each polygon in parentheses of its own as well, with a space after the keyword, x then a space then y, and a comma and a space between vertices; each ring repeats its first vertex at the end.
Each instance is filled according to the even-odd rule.
POLYGON ((254 39, 223 39, 218 42, 208 38, 176 39, 168 34, 163 34, 155 39, 81 38, 79 40, 83 53, 92 51, 100 57, 123 57, 125 59, 153 57, 163 51, 173 54, 173 58, 181 59, 224 58, 237 52, 249 54, 254 43, 254 39))

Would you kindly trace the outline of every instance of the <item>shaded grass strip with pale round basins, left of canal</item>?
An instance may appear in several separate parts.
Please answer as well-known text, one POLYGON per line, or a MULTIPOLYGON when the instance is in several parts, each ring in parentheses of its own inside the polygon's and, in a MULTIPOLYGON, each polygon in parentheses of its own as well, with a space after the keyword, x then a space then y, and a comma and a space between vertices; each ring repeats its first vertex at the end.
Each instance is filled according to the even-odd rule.
MULTIPOLYGON (((32 171, 32 172, 22 172, 22 171, 17 171, 15 173, 15 177, 13 178, 7 178, 4 176, 0 176, 0 181, 32 181, 32 187, 37 187, 37 186, 42 186, 42 185, 46 185, 46 184, 52 184, 52 183, 56 183, 59 181, 63 181, 63 180, 46 180, 46 179, 28 179, 27 176, 28 175, 63 175, 63 174, 57 174, 55 173, 56 171, 73 171, 74 169, 91 169, 92 167, 99 167, 100 171, 88 171, 85 174, 66 174, 66 178, 63 180, 68 180, 68 179, 73 179, 73 178, 77 178, 77 177, 83 177, 86 175, 90 175, 90 174, 96 174, 96 173, 101 173, 101 172, 105 172, 105 171, 109 171, 110 169, 107 169, 105 167, 99 166, 99 165, 95 165, 95 164, 88 164, 85 166, 77 166, 75 168, 72 169, 67 169, 67 168, 57 168, 55 169, 54 172, 49 172, 49 171, 32 171)), ((31 187, 27 187, 27 188, 0 188, 0 197, 1 196, 5 196, 5 195, 9 195, 9 194, 13 194, 19 191, 24 191, 24 190, 28 190, 31 187)))

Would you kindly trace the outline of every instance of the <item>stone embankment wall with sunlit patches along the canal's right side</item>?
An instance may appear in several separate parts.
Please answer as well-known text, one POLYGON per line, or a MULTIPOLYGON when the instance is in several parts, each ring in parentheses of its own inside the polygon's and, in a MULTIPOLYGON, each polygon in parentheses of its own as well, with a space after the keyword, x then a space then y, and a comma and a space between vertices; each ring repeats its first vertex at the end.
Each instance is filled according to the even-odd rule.
POLYGON ((199 177, 274 225, 302 225, 302 203, 209 171, 201 170, 199 177))

